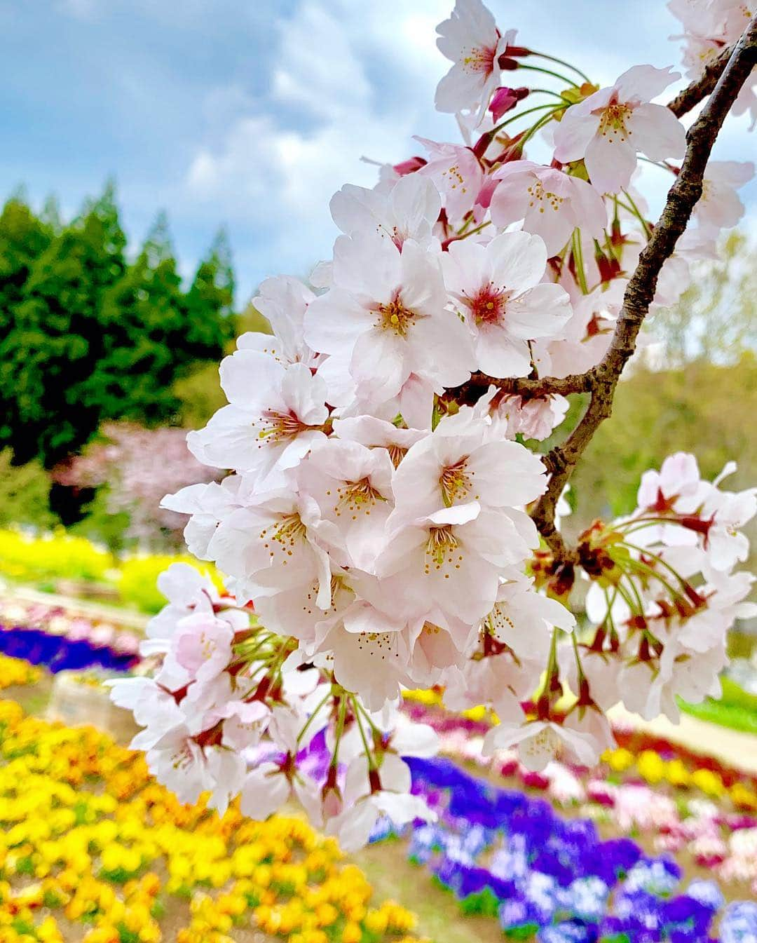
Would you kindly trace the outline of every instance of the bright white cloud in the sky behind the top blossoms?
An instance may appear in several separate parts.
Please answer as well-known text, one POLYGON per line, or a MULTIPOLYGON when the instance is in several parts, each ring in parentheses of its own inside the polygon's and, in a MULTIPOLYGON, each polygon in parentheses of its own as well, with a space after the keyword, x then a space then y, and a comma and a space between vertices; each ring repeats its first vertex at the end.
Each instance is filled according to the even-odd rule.
MULTIPOLYGON (((567 11, 550 3, 549 35, 541 7, 521 6, 515 25, 520 41, 549 45, 609 84, 634 62, 678 58, 667 41, 673 23, 666 10, 633 6, 617 26, 625 29, 635 17, 637 35, 629 32, 622 48, 606 41, 606 25, 591 25, 593 4, 567 11)), ((268 91, 254 96, 237 76, 208 92, 201 107, 206 138, 189 164, 184 194, 195 211, 206 207, 232 223, 239 261, 249 267, 239 272, 245 288, 264 274, 304 273, 328 254, 332 193, 347 181, 371 186, 376 179, 361 156, 396 161, 418 153, 415 133, 456 140, 453 120, 433 109, 447 65, 436 50, 435 26, 451 7, 452 0, 301 0, 272 25, 268 91)), ((513 23, 499 0, 491 7, 502 28, 513 23)), ((739 154, 746 140, 741 124, 726 132, 719 157, 739 154)), ((542 149, 537 145, 535 157, 549 159, 542 149)), ((656 212, 667 181, 654 169, 645 179, 656 212)))

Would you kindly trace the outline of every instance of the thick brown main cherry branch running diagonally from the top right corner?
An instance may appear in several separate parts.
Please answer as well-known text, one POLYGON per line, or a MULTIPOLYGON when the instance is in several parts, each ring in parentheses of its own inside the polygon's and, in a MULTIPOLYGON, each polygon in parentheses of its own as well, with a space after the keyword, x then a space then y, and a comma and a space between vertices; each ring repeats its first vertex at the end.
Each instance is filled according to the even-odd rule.
POLYGON ((662 216, 652 230, 650 240, 629 280, 612 343, 601 362, 588 374, 591 377, 591 399, 584 416, 563 445, 555 447, 545 456, 551 472, 550 484, 535 505, 532 518, 558 559, 574 560, 575 552, 568 549, 554 526, 557 499, 598 426, 612 412, 617 381, 634 353, 636 337, 650 309, 660 270, 673 254, 676 242, 683 235, 692 210, 701 196, 704 171, 717 134, 755 62, 757 16, 752 18, 741 39, 733 46, 710 100, 686 134, 686 155, 681 172, 668 191, 662 216))

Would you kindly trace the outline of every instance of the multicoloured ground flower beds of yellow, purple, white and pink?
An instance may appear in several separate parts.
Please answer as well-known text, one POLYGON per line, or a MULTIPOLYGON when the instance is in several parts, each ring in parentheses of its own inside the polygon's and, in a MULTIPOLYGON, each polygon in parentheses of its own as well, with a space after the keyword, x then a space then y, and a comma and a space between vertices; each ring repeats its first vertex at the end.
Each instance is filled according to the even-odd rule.
MULTIPOLYGON (((135 630, 9 596, 3 696, 24 701, 63 669, 95 687, 141 670, 135 630)), ((531 772, 515 752, 483 755, 483 710, 451 714, 430 690, 407 692, 404 711, 440 739, 440 756, 406 758, 438 819, 381 819, 358 866, 295 805, 255 822, 233 803, 220 819, 181 805, 107 734, 2 701, 0 941, 440 943, 424 910, 449 918, 452 903, 455 940, 756 938, 754 775, 618 725, 597 769, 531 772), (371 887, 377 855, 393 900, 386 875, 381 895, 371 887)))

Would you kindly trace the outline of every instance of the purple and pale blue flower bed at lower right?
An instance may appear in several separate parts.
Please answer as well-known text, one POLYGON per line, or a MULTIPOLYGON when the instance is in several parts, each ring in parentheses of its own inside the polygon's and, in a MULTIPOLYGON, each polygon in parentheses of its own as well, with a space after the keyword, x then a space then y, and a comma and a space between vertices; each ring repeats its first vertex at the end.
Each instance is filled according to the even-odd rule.
POLYGON ((499 920, 509 938, 539 943, 755 943, 757 904, 724 906, 712 881, 682 887, 682 870, 630 838, 601 840, 589 819, 490 786, 443 758, 405 757, 433 825, 371 836, 409 838, 408 857, 466 913, 499 920), (719 935, 714 935, 717 929, 719 935))

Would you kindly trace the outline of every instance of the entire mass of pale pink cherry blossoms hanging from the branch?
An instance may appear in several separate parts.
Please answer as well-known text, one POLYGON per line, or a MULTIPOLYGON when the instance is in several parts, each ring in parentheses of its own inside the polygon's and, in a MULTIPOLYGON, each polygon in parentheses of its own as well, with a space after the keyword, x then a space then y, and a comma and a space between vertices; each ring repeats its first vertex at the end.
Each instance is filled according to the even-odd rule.
MULTIPOLYGON (((700 6, 725 10, 718 24, 740 9, 686 17, 700 6)), ((438 33, 453 65, 436 107, 463 142, 418 139, 425 156, 382 166, 372 190, 344 186, 332 259, 309 284, 260 286, 273 333, 239 338, 221 365, 228 405, 188 439, 229 473, 163 502, 189 515, 189 551, 227 574, 228 595, 174 565, 143 644, 160 669, 113 684, 144 727, 134 745, 183 801, 209 790, 222 812, 241 795, 263 818, 294 796, 347 848, 382 815, 433 818, 402 756, 433 753, 436 736, 398 714, 403 688, 491 706, 489 751, 590 765, 613 742, 614 703, 675 717, 676 695, 716 690, 726 632, 751 612, 734 567, 754 489, 724 491, 675 455, 566 565, 528 508, 548 486, 538 443, 568 400, 498 382, 585 372, 607 351, 651 229, 639 152, 672 174, 684 154, 683 124, 651 101, 680 76, 640 65, 599 88, 517 45, 480 0, 457 0, 438 33), (549 87, 502 85, 518 71, 549 87), (537 135, 548 163, 525 156, 537 135)), ((654 304, 714 253, 752 174, 710 165, 654 304)))

